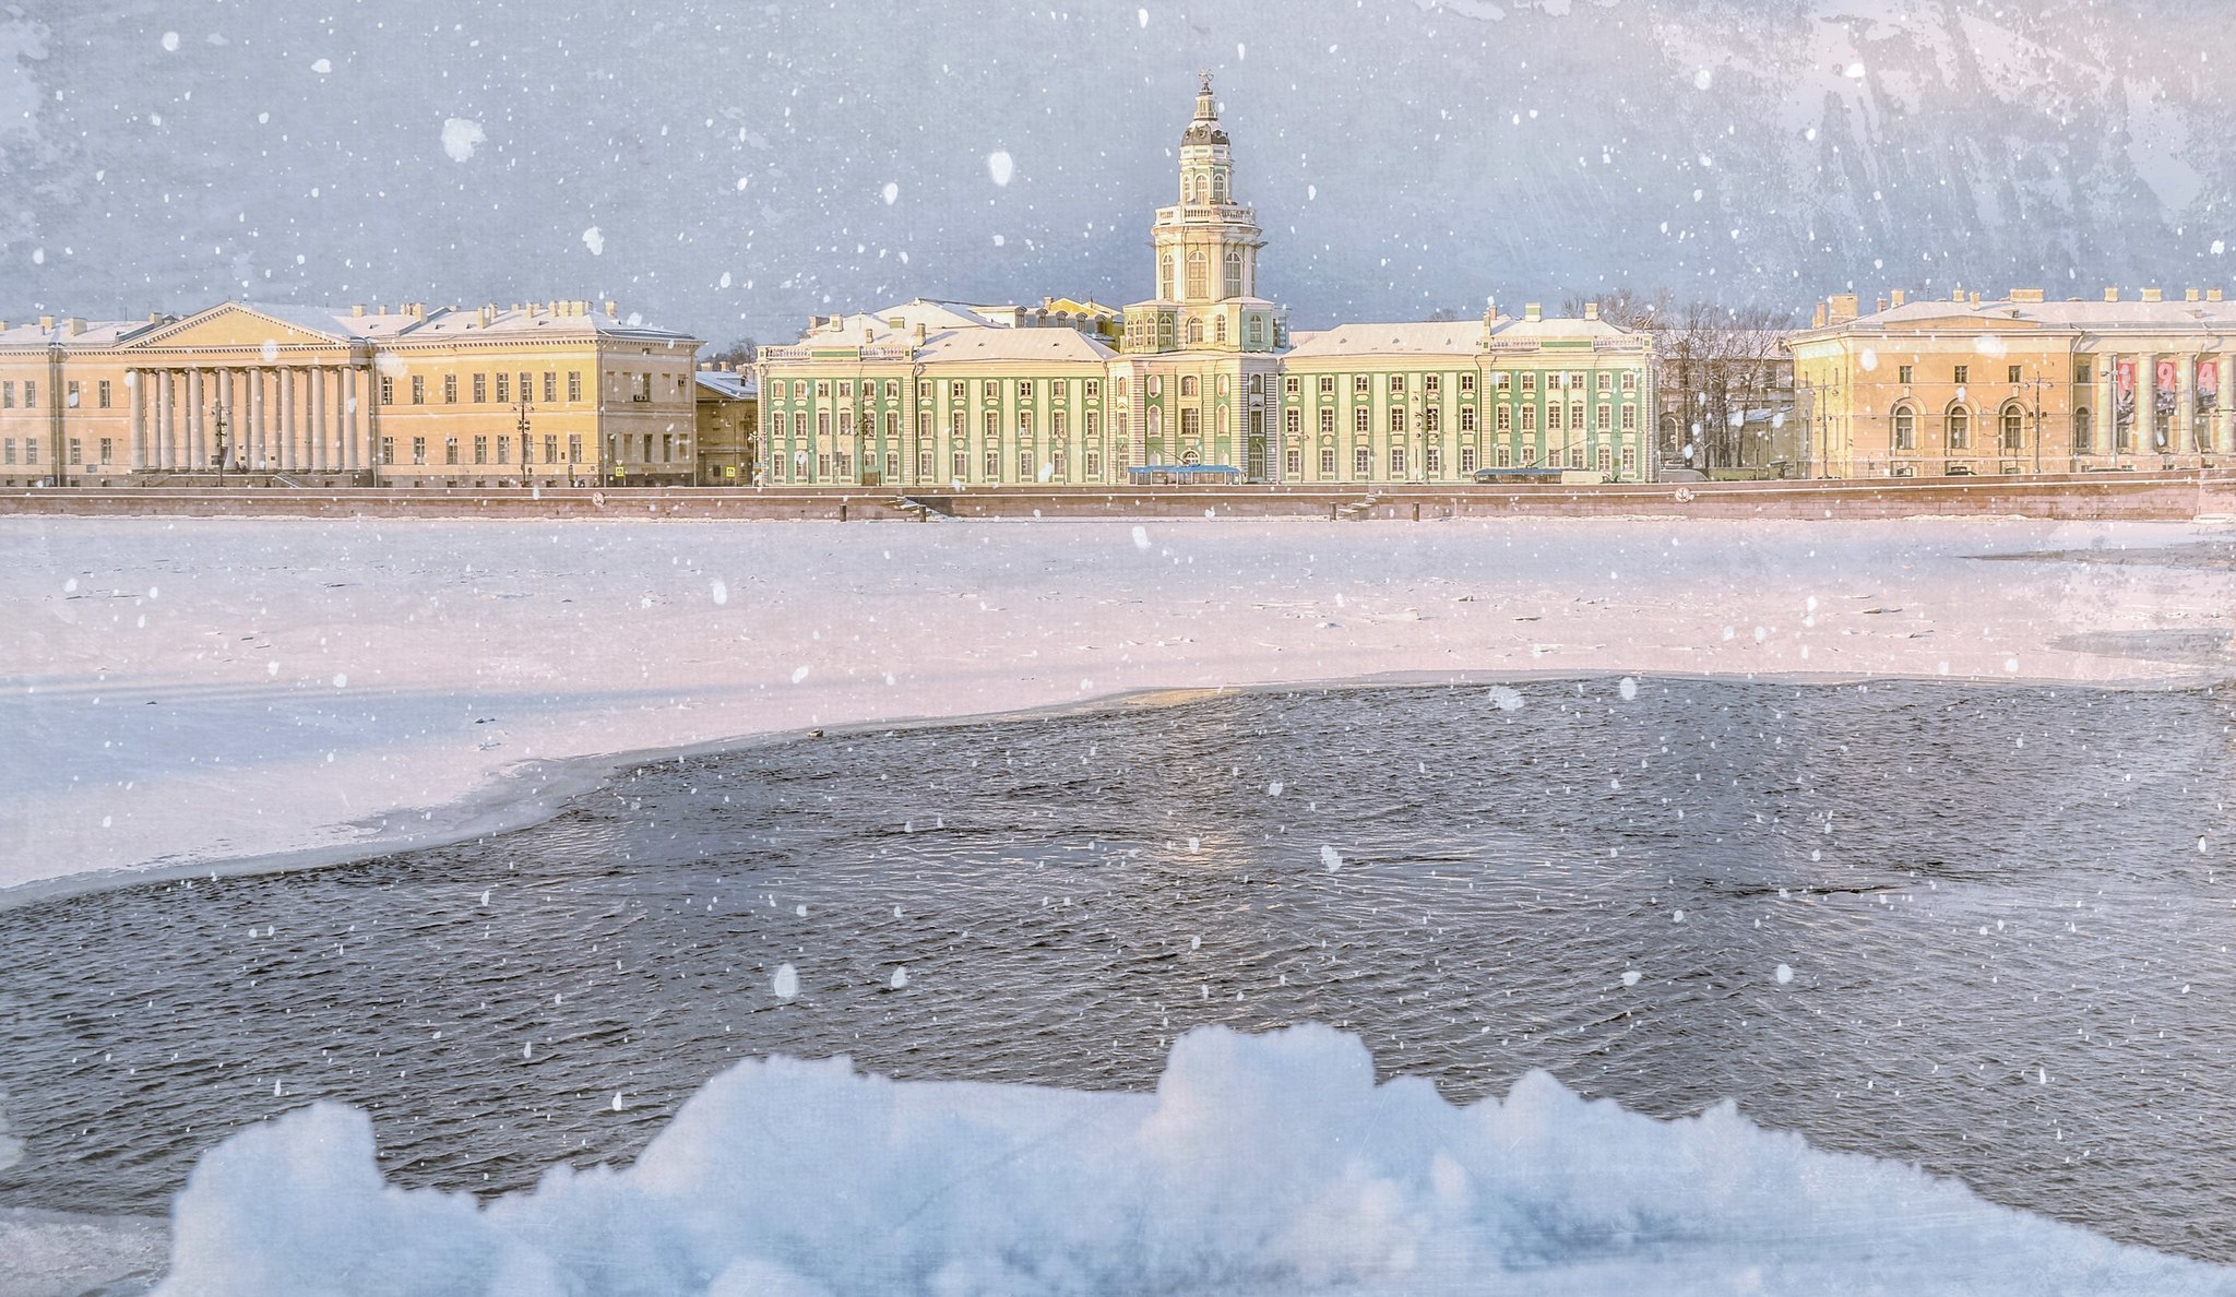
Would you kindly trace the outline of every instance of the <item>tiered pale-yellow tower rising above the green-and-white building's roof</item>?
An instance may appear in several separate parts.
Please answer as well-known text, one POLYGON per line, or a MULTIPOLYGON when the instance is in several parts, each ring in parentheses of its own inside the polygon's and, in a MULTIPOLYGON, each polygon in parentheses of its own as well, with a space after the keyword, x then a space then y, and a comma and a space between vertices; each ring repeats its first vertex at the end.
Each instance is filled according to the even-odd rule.
POLYGON ((1156 210, 1149 237, 1156 297, 1127 306, 1127 351, 1277 351, 1288 342, 1286 311, 1257 295, 1266 237, 1257 212, 1234 201, 1234 161, 1210 72, 1181 134, 1178 201, 1156 210))

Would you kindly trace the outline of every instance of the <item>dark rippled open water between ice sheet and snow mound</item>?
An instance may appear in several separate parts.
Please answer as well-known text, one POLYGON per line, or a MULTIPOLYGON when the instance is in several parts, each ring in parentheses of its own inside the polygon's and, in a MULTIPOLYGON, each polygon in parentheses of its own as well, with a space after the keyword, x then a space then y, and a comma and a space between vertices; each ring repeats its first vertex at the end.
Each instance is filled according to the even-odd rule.
POLYGON ((1190 1026, 1321 1020, 1458 1100, 1731 1096, 2229 1261, 2229 725, 1572 680, 648 765, 474 845, 0 912, 0 1203, 157 1212, 315 1098, 373 1109, 398 1183, 494 1192, 628 1158, 742 1055, 1147 1087, 1190 1026))

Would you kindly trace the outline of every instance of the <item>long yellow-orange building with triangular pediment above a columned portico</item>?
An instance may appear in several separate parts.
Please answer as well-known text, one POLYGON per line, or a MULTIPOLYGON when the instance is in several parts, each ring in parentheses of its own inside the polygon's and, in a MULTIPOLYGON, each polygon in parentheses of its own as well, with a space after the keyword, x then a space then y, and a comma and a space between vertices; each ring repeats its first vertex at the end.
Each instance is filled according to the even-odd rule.
POLYGON ((700 342, 590 302, 0 326, 0 485, 695 476, 700 342))

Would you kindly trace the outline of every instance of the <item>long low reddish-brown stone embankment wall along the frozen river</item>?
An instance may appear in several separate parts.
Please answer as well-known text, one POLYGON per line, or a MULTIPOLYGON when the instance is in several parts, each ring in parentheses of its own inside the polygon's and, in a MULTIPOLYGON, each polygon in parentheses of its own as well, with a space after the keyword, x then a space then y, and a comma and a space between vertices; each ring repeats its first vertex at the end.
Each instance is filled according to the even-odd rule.
POLYGON ((1433 521, 1482 517, 1673 519, 2198 519, 2236 517, 2236 470, 1872 481, 1418 487, 979 487, 961 492, 736 487, 9 487, 16 517, 315 519, 1096 519, 1321 517, 1433 521))

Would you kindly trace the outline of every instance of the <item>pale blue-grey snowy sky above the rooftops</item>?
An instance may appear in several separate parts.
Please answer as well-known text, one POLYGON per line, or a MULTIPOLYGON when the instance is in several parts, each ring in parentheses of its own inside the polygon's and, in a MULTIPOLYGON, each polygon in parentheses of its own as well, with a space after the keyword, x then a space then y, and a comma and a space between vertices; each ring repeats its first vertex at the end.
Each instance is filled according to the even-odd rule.
POLYGON ((2211 7, 568 9, 0 9, 0 320, 617 297, 720 344, 1127 302, 1198 67, 1299 329, 1619 284, 2218 286, 2236 242, 2211 7))

